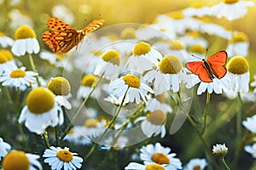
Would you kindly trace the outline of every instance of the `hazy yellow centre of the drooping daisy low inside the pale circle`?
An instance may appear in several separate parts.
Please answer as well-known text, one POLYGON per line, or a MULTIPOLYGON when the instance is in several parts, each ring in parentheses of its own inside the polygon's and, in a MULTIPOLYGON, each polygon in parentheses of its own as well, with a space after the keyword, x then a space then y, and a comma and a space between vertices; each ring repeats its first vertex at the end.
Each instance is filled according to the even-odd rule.
POLYGON ((148 120, 148 122, 151 122, 154 125, 160 126, 164 122, 166 122, 166 114, 160 110, 148 112, 147 120, 148 120))

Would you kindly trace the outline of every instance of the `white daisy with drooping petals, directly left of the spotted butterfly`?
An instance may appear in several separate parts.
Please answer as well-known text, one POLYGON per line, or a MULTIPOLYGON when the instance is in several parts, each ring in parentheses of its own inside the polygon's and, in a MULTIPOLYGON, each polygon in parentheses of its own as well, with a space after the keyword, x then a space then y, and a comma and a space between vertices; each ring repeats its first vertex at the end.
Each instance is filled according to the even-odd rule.
POLYGON ((15 31, 15 42, 12 47, 13 54, 20 56, 26 54, 38 54, 40 48, 35 31, 28 26, 20 26, 15 31))

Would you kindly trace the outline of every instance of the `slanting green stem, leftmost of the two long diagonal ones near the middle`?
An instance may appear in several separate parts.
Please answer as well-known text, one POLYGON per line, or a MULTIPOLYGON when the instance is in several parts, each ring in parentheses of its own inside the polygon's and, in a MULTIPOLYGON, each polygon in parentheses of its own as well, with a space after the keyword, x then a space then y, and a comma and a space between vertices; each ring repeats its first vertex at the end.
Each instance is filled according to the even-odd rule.
POLYGON ((60 141, 62 141, 65 136, 67 135, 67 133, 70 131, 70 129, 73 127, 73 122, 76 120, 77 116, 79 116, 80 111, 82 111, 84 105, 86 104, 86 102, 88 101, 88 99, 90 98, 90 95, 94 92, 97 84, 101 81, 102 77, 99 77, 99 79, 93 83, 91 85, 90 88, 90 93, 86 96, 86 98, 84 99, 84 101, 82 102, 82 104, 79 106, 78 111, 76 111, 76 113, 74 114, 72 121, 68 123, 67 128, 65 129, 64 133, 61 135, 60 141))

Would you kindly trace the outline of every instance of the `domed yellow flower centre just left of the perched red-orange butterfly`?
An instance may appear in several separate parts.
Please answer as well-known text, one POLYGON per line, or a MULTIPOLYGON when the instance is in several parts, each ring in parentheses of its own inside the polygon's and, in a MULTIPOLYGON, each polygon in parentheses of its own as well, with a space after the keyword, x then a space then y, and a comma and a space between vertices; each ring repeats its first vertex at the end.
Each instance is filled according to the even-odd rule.
POLYGON ((164 74, 177 74, 182 70, 182 63, 177 57, 168 55, 159 63, 160 71, 164 74))

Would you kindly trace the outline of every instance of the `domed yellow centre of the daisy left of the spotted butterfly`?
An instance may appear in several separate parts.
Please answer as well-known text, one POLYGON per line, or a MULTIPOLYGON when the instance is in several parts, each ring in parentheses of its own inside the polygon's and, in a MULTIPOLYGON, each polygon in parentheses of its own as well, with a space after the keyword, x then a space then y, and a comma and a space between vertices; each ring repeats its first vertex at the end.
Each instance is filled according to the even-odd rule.
POLYGON ((15 31, 15 39, 26 39, 34 37, 37 37, 35 31, 33 31, 33 29, 28 26, 20 26, 15 31))

